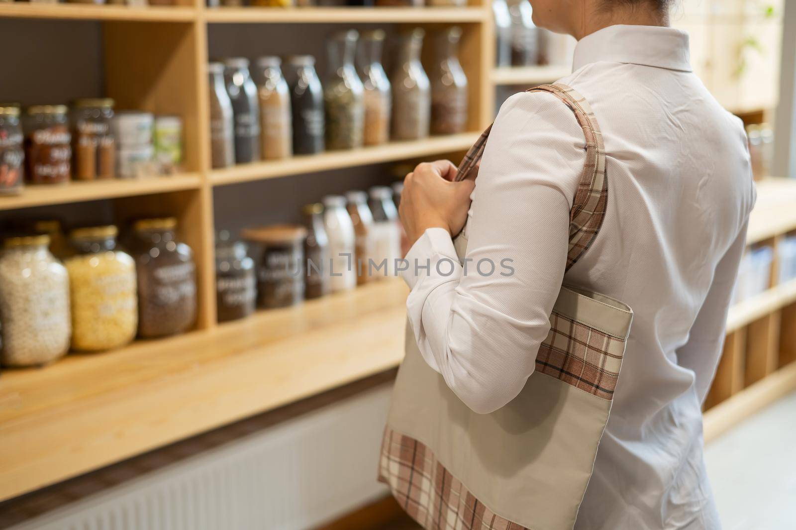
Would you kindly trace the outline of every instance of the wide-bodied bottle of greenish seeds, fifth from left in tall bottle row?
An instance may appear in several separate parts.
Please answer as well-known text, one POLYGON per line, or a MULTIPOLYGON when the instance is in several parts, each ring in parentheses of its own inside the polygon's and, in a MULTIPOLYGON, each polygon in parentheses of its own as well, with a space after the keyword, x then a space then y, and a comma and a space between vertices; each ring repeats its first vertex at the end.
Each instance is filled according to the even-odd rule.
POLYGON ((329 80, 323 87, 326 109, 326 149, 355 149, 362 146, 365 129, 365 88, 353 66, 359 33, 349 29, 335 33, 326 43, 329 80))

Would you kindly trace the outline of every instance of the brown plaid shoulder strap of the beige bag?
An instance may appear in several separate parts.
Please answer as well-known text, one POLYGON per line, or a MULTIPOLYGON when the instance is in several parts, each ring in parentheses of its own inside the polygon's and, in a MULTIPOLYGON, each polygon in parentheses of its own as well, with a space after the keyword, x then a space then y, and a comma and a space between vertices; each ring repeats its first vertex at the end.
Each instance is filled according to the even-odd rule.
MULTIPOLYGON (((597 125, 597 119, 591 106, 573 88, 565 84, 543 84, 526 92, 548 92, 560 99, 571 110, 586 138, 586 162, 580 174, 575 200, 569 214, 569 250, 567 253, 567 270, 576 263, 581 255, 594 242, 599 228, 603 224, 608 198, 608 179, 605 170, 605 147, 603 134, 597 125)), ((457 181, 474 178, 474 171, 484 154, 486 140, 492 126, 486 128, 474 146, 470 147, 462 158, 456 175, 457 181)))

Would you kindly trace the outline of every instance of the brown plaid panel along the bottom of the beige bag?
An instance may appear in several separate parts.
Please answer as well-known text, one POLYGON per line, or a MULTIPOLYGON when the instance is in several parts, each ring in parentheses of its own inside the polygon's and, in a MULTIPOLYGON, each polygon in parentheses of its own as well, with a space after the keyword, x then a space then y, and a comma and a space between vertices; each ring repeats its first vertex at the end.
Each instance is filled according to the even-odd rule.
POLYGON ((389 427, 381 443, 379 480, 426 530, 529 530, 497 516, 427 446, 389 427))

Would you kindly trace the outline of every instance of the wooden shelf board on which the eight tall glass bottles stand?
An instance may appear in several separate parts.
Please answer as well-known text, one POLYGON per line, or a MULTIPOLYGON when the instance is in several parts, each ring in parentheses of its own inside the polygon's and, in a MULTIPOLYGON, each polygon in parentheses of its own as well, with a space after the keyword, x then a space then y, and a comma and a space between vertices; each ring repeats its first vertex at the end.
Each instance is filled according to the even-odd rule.
POLYGON ((233 166, 224 170, 213 170, 210 173, 210 179, 214 185, 224 185, 265 178, 287 177, 301 173, 338 170, 380 162, 395 162, 405 158, 425 157, 432 154, 452 153, 469 149, 479 135, 479 133, 452 134, 451 136, 436 136, 414 142, 390 142, 384 146, 327 151, 322 154, 297 156, 272 162, 257 162, 244 166, 233 166))

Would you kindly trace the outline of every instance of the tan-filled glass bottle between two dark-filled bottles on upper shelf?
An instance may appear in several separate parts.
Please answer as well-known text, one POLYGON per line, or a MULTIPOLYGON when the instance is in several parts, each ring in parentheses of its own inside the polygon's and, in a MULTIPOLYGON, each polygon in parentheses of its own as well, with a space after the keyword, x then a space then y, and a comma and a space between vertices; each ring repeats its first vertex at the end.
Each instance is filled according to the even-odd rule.
POLYGON ((291 91, 282 75, 279 57, 257 60, 257 95, 263 160, 287 158, 293 154, 291 91))

